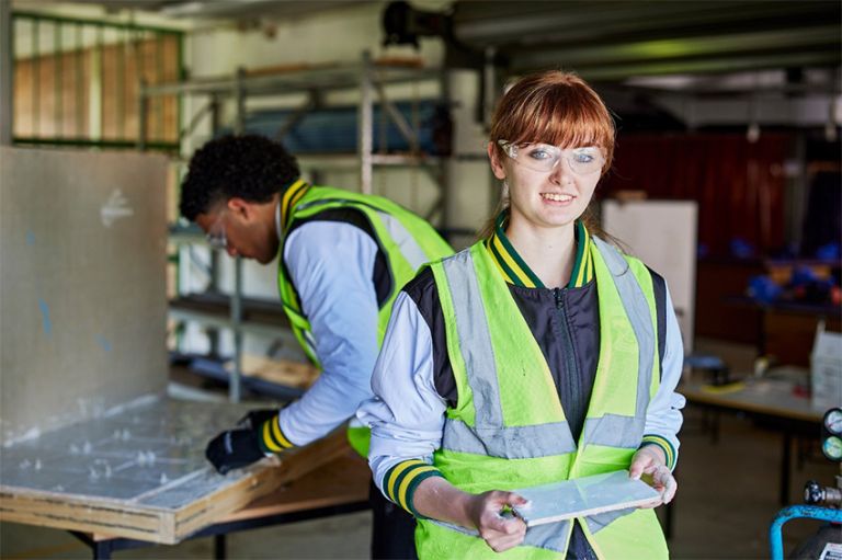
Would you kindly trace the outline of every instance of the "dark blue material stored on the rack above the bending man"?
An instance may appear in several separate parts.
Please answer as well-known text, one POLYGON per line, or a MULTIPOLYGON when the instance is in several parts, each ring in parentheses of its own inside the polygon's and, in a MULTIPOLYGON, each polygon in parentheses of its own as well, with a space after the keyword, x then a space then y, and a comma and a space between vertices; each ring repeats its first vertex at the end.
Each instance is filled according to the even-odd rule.
MULTIPOLYGON (((433 156, 451 153, 451 119, 446 105, 435 100, 396 102, 395 108, 412 126, 417 112, 419 148, 433 156)), ((253 111, 246 116, 246 132, 275 138, 295 110, 253 111)), ((378 104, 374 105, 374 151, 379 151, 385 139, 386 151, 408 152, 409 142, 378 104), (386 119, 385 137, 383 119, 386 119)), ((359 114, 356 106, 328 107, 308 111, 284 135, 282 142, 292 153, 353 153, 359 142, 359 114)), ((230 132, 230 130, 227 130, 230 132)))

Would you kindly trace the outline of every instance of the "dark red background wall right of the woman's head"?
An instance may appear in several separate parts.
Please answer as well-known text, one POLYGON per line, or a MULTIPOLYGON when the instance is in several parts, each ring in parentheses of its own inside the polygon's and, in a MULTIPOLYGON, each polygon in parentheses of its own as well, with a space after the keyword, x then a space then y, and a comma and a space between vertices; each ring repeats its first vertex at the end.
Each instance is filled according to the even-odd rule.
POLYGON ((648 198, 696 201, 698 242, 708 255, 730 255, 739 238, 762 256, 785 242, 789 151, 790 137, 774 133, 755 142, 739 134, 622 135, 596 193, 610 197, 630 190, 648 198))

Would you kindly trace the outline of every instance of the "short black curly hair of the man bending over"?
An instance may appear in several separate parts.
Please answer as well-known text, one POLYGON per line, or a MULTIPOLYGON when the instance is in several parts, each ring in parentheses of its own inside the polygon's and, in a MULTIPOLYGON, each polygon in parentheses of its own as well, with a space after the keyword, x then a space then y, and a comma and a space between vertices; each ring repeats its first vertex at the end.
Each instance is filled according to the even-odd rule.
POLYGON ((264 136, 223 136, 196 150, 181 183, 181 215, 191 221, 219 202, 268 203, 300 175, 298 162, 264 136))

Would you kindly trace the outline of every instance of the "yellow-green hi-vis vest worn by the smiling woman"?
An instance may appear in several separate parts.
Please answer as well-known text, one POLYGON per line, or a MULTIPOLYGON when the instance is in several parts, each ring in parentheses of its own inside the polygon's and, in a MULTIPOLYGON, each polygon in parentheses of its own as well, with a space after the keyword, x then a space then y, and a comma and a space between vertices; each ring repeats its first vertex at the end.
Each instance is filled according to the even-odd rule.
MULTIPOLYGON (((514 490, 627 469, 660 385, 652 279, 638 260, 599 238, 591 251, 600 356, 579 442, 565 419, 538 343, 482 243, 432 263, 458 389, 433 464, 459 489, 514 490)), ((622 510, 539 525, 494 553, 476 532, 419 519, 422 559, 564 559, 572 523, 602 559, 667 558, 653 510, 622 510)))

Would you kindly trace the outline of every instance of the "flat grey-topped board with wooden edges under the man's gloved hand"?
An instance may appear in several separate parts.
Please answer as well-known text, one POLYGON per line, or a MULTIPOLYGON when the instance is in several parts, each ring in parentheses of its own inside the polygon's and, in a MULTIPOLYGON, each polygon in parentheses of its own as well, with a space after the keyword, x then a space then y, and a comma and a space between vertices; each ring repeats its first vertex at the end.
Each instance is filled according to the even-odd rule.
POLYGON ((206 442, 248 407, 152 398, 0 456, 0 519, 175 544, 348 453, 344 433, 217 475, 206 442))

